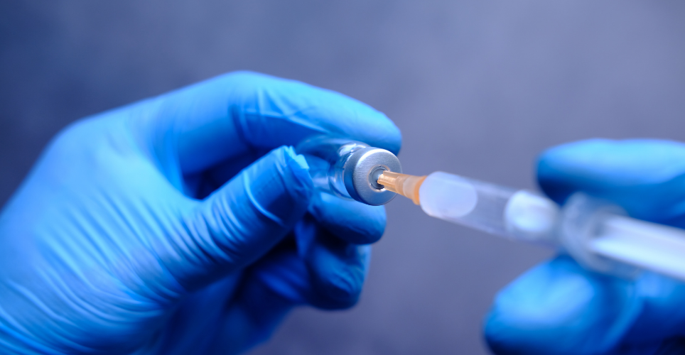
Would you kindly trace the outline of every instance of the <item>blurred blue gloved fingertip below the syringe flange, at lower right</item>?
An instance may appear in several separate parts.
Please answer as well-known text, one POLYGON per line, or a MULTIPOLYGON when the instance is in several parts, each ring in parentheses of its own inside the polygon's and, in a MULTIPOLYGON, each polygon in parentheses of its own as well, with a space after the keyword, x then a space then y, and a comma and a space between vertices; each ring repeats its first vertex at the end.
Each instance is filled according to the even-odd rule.
POLYGON ((500 355, 608 354, 640 315, 633 288, 560 256, 500 291, 485 339, 500 355))

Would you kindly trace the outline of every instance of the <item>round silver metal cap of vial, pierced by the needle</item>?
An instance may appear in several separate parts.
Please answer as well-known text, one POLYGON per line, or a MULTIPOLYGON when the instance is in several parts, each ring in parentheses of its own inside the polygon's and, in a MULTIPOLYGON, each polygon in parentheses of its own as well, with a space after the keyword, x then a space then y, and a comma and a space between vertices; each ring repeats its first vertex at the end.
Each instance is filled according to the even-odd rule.
POLYGON ((387 204, 397 194, 378 184, 378 177, 385 170, 402 172, 399 159, 393 153, 374 147, 355 151, 343 165, 347 193, 353 199, 372 206, 387 204))

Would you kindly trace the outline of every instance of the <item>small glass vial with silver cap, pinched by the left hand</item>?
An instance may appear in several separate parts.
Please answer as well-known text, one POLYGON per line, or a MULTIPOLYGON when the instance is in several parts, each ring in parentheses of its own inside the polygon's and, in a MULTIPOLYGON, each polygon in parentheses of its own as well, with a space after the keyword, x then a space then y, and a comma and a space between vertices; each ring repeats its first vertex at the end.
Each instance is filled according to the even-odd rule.
POLYGON ((296 146, 309 165, 309 173, 319 190, 338 197, 377 206, 387 204, 395 195, 378 185, 383 171, 401 173, 393 153, 349 138, 314 136, 296 146))

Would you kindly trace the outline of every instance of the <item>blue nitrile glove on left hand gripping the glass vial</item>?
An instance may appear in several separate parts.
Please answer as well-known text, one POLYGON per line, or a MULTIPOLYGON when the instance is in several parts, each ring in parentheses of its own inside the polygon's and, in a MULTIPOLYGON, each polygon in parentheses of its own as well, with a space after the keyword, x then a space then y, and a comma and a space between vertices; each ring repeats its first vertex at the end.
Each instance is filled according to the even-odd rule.
POLYGON ((313 190, 289 146, 314 133, 401 141, 249 72, 72 124, 0 215, 0 353, 235 354, 294 305, 353 305, 385 211, 313 190))

